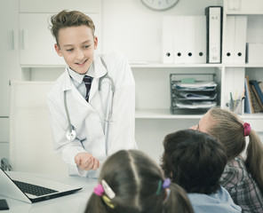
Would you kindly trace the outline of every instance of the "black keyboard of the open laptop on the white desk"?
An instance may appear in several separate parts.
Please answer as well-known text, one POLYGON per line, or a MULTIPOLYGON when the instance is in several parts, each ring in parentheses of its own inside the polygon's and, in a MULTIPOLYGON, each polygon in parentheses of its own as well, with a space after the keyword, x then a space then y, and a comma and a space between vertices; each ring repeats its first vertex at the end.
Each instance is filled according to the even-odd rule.
POLYGON ((30 193, 30 194, 33 194, 35 196, 41 196, 41 195, 45 195, 48 193, 57 193, 58 192, 58 191, 52 190, 50 188, 45 188, 45 187, 39 186, 39 185, 32 185, 32 184, 20 182, 17 180, 13 180, 13 182, 15 183, 15 185, 17 185, 20 188, 20 190, 23 193, 30 193))

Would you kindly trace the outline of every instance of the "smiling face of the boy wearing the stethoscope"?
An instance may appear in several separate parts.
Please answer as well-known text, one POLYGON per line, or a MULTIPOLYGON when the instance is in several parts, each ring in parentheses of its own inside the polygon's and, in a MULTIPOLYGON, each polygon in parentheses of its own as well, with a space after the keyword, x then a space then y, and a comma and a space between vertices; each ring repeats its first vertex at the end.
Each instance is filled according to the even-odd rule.
POLYGON ((78 74, 85 74, 92 65, 98 38, 92 35, 91 28, 84 25, 61 28, 58 44, 55 44, 55 50, 65 59, 68 67, 78 74))

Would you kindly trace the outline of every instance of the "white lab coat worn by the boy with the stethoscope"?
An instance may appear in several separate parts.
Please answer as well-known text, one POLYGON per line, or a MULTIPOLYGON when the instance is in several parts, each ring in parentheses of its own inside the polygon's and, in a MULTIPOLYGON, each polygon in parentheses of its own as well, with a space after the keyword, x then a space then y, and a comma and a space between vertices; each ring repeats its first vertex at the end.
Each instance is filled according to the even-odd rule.
POLYGON ((94 176, 92 174, 94 172, 79 170, 76 167, 74 158, 78 153, 90 153, 101 163, 108 155, 118 150, 137 148, 134 137, 135 83, 131 67, 124 55, 118 52, 100 57, 95 56, 93 60, 94 78, 89 103, 77 91, 68 75, 67 68, 48 94, 54 149, 68 163, 70 174, 94 176), (102 64, 100 57, 105 62, 107 69, 102 64), (108 79, 103 80, 100 93, 98 91, 100 77, 106 75, 107 71, 115 84, 113 122, 109 123, 103 121, 102 113, 103 105, 103 110, 108 114, 112 96, 108 79), (76 130, 74 141, 66 138, 68 119, 64 106, 64 91, 67 91, 71 124, 76 130), (105 130, 107 135, 104 134, 105 130))

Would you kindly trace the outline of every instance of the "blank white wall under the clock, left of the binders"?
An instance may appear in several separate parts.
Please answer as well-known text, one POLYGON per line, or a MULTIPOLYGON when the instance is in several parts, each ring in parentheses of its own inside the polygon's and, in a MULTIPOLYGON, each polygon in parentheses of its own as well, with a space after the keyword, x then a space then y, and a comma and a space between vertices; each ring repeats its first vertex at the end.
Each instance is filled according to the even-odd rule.
POLYGON ((168 11, 148 9, 140 0, 102 1, 102 51, 122 51, 132 61, 161 61, 162 19, 169 15, 204 15, 219 0, 179 0, 168 11))

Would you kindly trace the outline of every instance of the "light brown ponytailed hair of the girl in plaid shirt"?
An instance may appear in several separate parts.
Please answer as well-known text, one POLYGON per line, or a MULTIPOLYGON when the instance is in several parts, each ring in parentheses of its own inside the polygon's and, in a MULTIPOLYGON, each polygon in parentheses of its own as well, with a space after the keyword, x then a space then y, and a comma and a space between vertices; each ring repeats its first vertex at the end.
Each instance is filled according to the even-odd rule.
MULTIPOLYGON (((227 160, 233 160, 243 152, 246 146, 243 121, 238 115, 219 107, 211 108, 208 114, 211 115, 213 122, 207 130, 208 133, 226 147, 227 160)), ((254 130, 251 130, 249 138, 245 165, 263 193, 263 146, 254 130)))

